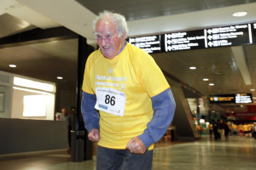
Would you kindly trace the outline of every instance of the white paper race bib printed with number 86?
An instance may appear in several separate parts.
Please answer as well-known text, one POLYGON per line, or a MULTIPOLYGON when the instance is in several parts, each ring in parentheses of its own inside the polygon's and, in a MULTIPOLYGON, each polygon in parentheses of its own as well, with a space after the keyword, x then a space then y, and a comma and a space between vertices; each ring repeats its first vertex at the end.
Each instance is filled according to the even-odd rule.
POLYGON ((113 88, 96 88, 96 110, 124 116, 125 93, 113 88))

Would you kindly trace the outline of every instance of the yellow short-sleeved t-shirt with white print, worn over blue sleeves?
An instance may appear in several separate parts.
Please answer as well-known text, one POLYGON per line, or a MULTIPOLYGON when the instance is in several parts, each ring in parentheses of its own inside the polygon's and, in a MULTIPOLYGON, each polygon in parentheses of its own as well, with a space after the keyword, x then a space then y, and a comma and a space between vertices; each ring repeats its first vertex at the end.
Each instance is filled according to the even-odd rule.
MULTIPOLYGON (((123 108, 123 116, 100 111, 101 140, 98 144, 112 149, 125 149, 131 138, 142 134, 147 128, 153 116, 151 97, 167 88, 170 86, 154 59, 129 42, 113 59, 105 58, 100 50, 90 54, 84 71, 84 92, 97 94, 97 101, 102 98, 101 102, 108 103, 99 103, 99 108, 124 103, 116 111, 122 112, 123 108), (103 89, 102 96, 97 94, 98 88, 103 89)), ((153 147, 152 144, 148 149, 153 147)))

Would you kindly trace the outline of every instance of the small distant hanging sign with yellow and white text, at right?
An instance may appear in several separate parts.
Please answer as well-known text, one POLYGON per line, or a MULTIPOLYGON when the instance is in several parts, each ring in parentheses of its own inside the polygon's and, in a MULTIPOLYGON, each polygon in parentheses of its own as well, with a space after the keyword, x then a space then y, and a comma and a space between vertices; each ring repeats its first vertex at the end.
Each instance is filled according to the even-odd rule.
POLYGON ((252 102, 252 94, 220 94, 210 96, 211 104, 248 104, 252 102))

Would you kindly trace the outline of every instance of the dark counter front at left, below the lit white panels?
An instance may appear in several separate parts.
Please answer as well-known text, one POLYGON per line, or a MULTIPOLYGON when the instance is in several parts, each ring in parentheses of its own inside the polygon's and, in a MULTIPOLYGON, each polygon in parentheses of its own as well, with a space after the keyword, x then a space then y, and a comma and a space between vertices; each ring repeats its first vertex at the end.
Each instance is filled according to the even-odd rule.
POLYGON ((67 122, 0 118, 0 155, 67 148, 67 122))

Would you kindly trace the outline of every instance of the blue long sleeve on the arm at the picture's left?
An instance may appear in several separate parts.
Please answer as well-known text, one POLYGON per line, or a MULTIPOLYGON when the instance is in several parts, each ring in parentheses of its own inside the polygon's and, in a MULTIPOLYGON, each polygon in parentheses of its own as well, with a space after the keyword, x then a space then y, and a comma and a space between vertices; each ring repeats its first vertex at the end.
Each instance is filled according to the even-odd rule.
POLYGON ((81 111, 84 119, 84 127, 90 132, 92 129, 100 129, 100 115, 94 106, 96 105, 96 95, 83 92, 81 111))

